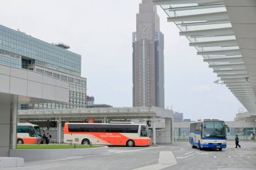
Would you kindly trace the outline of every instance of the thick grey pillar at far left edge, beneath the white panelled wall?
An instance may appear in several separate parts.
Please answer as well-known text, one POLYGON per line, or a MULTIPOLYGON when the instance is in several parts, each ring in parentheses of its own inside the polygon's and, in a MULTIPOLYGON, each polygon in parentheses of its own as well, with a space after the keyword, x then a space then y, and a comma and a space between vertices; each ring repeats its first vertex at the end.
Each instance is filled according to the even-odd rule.
POLYGON ((0 157, 9 157, 16 146, 18 97, 4 94, 0 99, 0 157))

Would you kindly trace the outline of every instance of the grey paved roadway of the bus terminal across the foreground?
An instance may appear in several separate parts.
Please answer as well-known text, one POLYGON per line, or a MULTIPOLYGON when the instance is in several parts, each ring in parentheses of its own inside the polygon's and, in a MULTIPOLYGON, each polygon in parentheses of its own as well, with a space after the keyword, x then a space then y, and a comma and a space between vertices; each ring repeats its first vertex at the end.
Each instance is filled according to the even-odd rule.
POLYGON ((222 151, 199 151, 191 148, 189 142, 133 148, 115 146, 100 155, 33 161, 26 162, 24 167, 0 169, 256 170, 256 142, 241 142, 241 146, 234 148, 234 142, 228 142, 222 151))

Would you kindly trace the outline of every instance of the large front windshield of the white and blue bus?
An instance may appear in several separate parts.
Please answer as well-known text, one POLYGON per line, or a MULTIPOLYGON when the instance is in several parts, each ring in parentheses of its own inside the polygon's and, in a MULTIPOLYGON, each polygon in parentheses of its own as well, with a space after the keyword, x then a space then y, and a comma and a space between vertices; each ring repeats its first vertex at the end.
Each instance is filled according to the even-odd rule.
POLYGON ((225 124, 224 122, 203 122, 203 136, 205 138, 225 138, 225 124))

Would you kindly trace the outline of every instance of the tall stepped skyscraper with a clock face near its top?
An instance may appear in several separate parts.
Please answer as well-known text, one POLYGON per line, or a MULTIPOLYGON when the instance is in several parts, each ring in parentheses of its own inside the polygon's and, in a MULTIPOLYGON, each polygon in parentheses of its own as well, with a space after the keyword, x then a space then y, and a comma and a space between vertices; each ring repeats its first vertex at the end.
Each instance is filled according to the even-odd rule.
POLYGON ((164 35, 152 0, 142 0, 133 32, 133 107, 164 108, 164 35))

